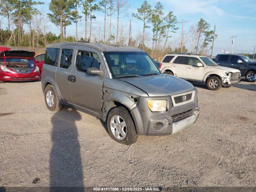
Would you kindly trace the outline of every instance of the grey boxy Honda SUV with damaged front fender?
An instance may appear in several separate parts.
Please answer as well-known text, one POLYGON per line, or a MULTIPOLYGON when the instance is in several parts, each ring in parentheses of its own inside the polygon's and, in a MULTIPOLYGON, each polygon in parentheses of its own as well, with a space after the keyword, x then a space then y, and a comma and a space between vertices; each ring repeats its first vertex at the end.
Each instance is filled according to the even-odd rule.
POLYGON ((66 105, 100 118, 110 137, 127 145, 138 135, 174 134, 200 113, 192 84, 161 74, 146 52, 128 46, 48 45, 42 90, 49 110, 66 105))

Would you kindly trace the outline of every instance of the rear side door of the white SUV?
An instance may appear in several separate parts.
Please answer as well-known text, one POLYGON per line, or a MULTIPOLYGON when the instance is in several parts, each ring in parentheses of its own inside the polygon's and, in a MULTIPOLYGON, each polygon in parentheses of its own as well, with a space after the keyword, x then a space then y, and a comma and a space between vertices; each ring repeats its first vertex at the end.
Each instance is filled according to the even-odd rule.
POLYGON ((186 56, 178 56, 175 58, 174 62, 170 64, 174 70, 174 75, 180 78, 188 78, 186 74, 187 65, 186 56))

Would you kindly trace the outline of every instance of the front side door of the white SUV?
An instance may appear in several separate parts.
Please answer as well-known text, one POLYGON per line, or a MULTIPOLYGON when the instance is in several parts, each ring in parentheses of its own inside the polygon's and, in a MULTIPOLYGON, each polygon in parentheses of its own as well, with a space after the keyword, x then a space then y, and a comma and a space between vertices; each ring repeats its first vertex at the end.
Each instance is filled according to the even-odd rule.
POLYGON ((201 82, 204 80, 205 67, 198 67, 196 66, 197 63, 202 64, 202 62, 198 58, 188 57, 188 66, 186 68, 186 74, 189 80, 201 82))

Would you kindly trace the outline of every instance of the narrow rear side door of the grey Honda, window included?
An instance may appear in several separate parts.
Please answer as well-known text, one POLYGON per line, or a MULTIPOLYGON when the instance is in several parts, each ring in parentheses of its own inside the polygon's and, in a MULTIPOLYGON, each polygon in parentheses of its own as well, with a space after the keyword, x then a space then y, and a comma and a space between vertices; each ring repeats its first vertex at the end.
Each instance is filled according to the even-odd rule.
POLYGON ((68 102, 71 102, 70 81, 68 80, 68 76, 70 76, 72 70, 74 47, 75 46, 72 45, 61 47, 59 56, 60 62, 56 69, 56 83, 62 98, 68 102))

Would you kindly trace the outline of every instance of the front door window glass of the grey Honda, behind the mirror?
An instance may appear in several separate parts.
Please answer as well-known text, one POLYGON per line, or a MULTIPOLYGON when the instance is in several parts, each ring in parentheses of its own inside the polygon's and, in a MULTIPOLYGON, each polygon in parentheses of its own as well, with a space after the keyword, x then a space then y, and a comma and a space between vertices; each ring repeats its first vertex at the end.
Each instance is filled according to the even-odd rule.
POLYGON ((100 69, 100 59, 96 53, 78 51, 76 55, 76 68, 78 71, 86 72, 88 67, 100 69))

